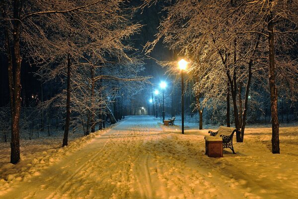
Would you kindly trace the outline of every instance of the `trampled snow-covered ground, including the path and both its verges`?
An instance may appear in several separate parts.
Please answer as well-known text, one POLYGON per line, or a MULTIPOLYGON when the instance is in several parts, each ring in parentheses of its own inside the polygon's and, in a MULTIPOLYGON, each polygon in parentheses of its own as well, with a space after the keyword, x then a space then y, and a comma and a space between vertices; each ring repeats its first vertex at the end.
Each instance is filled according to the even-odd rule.
POLYGON ((298 199, 297 126, 280 128, 281 154, 270 128, 248 127, 223 158, 204 155, 208 129, 185 127, 131 116, 68 147, 32 149, 18 165, 0 163, 0 198, 298 199))

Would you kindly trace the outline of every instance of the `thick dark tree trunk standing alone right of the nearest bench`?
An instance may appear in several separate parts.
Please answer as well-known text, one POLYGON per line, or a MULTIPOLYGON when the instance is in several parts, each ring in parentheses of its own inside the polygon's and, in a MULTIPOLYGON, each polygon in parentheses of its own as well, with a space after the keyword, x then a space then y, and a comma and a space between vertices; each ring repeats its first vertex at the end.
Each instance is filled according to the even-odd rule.
MULTIPOLYGON (((274 0, 269 0, 270 6, 274 0)), ((280 153, 279 146, 279 122, 277 109, 277 87, 275 86, 275 55, 274 55, 274 22, 273 12, 268 15, 268 42, 269 42, 269 86, 270 86, 270 105, 272 117, 272 153, 280 153)))

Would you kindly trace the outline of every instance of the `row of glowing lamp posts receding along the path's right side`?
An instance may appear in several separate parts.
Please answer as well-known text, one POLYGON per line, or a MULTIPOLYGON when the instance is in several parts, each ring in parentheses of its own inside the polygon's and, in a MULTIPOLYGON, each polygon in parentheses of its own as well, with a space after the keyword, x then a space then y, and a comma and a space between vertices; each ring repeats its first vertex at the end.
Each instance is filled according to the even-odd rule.
MULTIPOLYGON (((186 70, 188 62, 185 61, 184 59, 181 59, 178 62, 179 69, 181 71, 181 117, 182 117, 182 125, 181 125, 181 130, 182 134, 184 134, 184 71, 186 70)), ((164 89, 166 88, 166 83, 162 81, 159 84, 161 90, 162 90, 162 122, 164 122, 164 89)), ((159 94, 158 90, 154 91, 155 96, 159 94)), ((153 103, 153 98, 149 100, 150 102, 153 103)), ((153 110, 154 111, 154 110, 153 110)), ((156 103, 156 118, 157 118, 157 103, 156 103)))

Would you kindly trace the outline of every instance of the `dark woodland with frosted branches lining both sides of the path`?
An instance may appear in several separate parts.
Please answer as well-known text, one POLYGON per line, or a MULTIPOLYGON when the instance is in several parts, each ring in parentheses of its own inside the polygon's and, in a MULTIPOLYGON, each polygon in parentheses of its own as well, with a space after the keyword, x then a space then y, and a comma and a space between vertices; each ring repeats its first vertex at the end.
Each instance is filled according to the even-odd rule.
POLYGON ((62 129, 66 146, 70 131, 88 135, 142 106, 159 117, 162 96, 154 90, 161 80, 168 83, 166 114, 181 114, 181 58, 189 62, 185 113, 200 129, 235 126, 243 142, 246 123, 272 123, 272 152, 279 153, 279 124, 298 120, 296 0, 1 0, 0 6, 0 83, 8 85, 1 86, 0 131, 11 142, 13 164, 20 135, 62 129))

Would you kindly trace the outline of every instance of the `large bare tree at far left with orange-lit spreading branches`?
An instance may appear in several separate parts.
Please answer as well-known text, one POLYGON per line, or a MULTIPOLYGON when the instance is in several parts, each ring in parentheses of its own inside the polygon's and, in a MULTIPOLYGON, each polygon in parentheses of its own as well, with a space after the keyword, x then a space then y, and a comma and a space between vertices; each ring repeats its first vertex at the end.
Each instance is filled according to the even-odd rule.
POLYGON ((104 61, 104 57, 109 53, 121 52, 125 56, 123 52, 130 50, 131 47, 126 48, 127 45, 123 41, 140 26, 128 25, 129 16, 122 12, 124 2, 124 0, 51 0, 47 3, 35 0, 0 1, 12 118, 11 163, 16 164, 20 159, 22 57, 33 59, 40 65, 47 65, 67 57, 76 58, 75 61, 79 63, 78 57, 83 57, 83 52, 90 52, 87 48, 93 51, 93 57, 101 61, 104 61), (44 53, 46 51, 48 55, 44 53))

